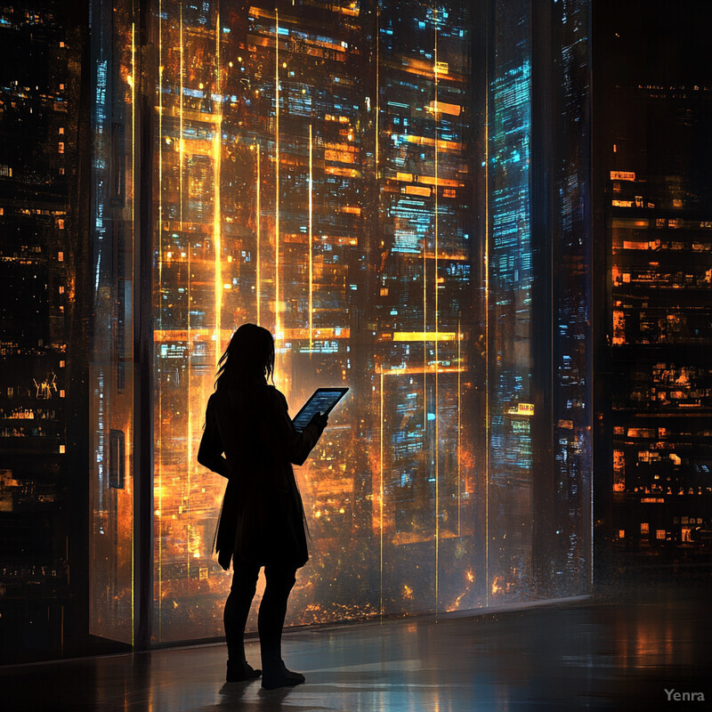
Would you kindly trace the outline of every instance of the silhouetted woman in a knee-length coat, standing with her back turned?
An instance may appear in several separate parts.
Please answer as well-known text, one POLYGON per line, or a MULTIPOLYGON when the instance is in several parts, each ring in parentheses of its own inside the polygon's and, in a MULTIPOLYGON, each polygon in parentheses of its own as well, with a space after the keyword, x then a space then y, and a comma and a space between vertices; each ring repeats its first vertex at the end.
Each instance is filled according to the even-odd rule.
POLYGON ((198 462, 228 478, 215 535, 232 586, 225 603, 228 682, 260 676, 245 659, 244 634, 260 567, 266 587, 257 627, 264 688, 303 683, 281 659, 287 598, 295 572, 309 558, 302 498, 292 463, 302 465, 328 417, 317 414, 297 433, 287 401, 267 383, 274 370, 274 340, 255 324, 243 324, 219 361, 215 392, 207 401, 198 462), (224 457, 223 457, 224 453, 224 457))

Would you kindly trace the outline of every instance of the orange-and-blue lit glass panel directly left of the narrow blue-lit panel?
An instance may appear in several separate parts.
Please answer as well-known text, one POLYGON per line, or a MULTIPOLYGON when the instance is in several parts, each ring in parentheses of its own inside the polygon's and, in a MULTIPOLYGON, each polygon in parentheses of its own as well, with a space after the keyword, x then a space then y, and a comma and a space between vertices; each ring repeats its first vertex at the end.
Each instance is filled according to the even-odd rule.
POLYGON ((376 18, 371 412, 385 611, 469 607, 478 600, 473 587, 481 586, 474 575, 473 423, 460 417, 472 388, 467 344, 475 333, 468 302, 471 20, 465 5, 425 3, 384 3, 376 18))

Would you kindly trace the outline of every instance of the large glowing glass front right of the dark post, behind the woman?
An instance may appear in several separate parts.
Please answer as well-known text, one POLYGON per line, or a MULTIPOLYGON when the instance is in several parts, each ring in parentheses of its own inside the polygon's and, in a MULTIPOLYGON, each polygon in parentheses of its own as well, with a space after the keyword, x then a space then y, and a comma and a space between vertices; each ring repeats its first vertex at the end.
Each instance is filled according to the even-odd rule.
MULTIPOLYGON (((297 471, 312 542, 289 622, 550 595, 536 567, 552 578, 554 549, 570 562, 557 595, 581 592, 587 355, 573 331, 543 348, 534 325, 558 300, 584 334, 587 278, 542 287, 554 247, 532 231, 530 5, 154 10, 154 640, 223 634, 225 481, 195 456, 216 360, 246 321, 277 337, 293 412, 318 385, 351 388, 297 471), (540 382, 554 358, 578 384, 540 382), (553 426, 533 424, 554 414, 553 449, 553 426), (563 490, 541 457, 554 450, 563 490), (569 511, 561 535, 553 513, 569 511)), ((585 95, 586 77, 574 85, 585 95)), ((585 263, 569 205, 546 234, 585 263)))

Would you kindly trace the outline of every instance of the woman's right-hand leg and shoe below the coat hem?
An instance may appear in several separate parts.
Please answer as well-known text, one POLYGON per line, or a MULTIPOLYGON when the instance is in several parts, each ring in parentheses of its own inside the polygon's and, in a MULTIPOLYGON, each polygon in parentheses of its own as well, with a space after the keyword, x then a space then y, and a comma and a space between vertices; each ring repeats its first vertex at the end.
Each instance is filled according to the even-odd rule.
POLYGON ((296 567, 288 564, 271 564, 264 567, 266 586, 257 617, 263 687, 283 687, 304 681, 302 675, 290 673, 282 662, 282 628, 287 615, 287 599, 295 585, 295 573, 296 567))

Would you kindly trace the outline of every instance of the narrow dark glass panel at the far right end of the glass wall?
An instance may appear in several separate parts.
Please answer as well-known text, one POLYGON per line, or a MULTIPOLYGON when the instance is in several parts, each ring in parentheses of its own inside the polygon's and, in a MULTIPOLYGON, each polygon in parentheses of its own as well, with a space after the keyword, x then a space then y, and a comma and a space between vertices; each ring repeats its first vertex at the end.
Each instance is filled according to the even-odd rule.
POLYGON ((552 262, 553 372, 551 435, 554 482, 550 522, 540 559, 549 595, 586 592, 591 581, 592 533, 592 243, 590 197, 589 7, 553 6, 552 262), (546 558, 545 558, 546 557, 546 558))

